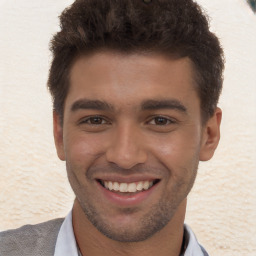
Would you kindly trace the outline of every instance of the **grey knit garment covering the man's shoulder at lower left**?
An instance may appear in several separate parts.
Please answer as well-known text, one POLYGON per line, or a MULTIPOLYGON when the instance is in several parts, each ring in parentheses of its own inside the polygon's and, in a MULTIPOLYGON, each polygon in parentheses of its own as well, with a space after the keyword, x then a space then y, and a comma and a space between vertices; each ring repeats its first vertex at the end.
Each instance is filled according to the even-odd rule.
POLYGON ((55 219, 1 232, 0 255, 53 255, 55 242, 63 221, 64 219, 55 219))

